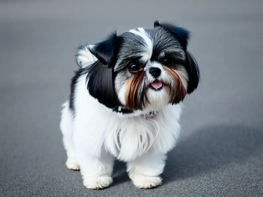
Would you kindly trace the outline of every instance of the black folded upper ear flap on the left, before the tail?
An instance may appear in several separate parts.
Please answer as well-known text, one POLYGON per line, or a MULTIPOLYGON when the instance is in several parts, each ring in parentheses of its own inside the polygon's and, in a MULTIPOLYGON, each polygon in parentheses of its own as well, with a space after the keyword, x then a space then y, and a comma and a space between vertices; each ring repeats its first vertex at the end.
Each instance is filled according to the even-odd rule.
POLYGON ((120 43, 116 30, 109 37, 97 44, 89 45, 90 52, 105 66, 111 67, 114 59, 114 53, 120 43))

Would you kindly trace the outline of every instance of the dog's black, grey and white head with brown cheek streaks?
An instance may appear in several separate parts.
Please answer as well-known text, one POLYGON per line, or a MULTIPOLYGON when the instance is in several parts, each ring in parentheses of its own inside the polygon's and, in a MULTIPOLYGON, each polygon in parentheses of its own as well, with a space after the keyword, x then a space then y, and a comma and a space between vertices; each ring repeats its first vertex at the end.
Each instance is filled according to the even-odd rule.
POLYGON ((184 28, 155 21, 154 28, 115 32, 103 42, 80 46, 77 63, 88 72, 90 95, 105 106, 158 111, 198 86, 189 37, 184 28))

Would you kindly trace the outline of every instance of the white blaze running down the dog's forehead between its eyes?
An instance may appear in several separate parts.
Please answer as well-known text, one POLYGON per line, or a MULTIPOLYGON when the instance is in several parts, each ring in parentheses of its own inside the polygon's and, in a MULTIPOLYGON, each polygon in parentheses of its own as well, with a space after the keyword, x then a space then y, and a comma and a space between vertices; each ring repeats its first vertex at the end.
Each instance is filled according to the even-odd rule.
POLYGON ((145 52, 142 54, 142 60, 148 61, 151 59, 153 54, 153 41, 151 40, 149 34, 145 32, 144 28, 131 29, 129 32, 140 36, 146 43, 145 52), (138 30, 137 30, 138 29, 138 30))

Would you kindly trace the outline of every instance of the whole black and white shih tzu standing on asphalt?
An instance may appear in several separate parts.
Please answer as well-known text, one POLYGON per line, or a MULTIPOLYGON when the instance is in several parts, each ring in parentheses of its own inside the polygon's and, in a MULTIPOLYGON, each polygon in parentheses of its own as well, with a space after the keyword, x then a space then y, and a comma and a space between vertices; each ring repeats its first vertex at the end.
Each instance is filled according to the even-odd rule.
POLYGON ((181 101, 199 84, 188 30, 154 22, 93 45, 81 45, 80 69, 63 104, 60 129, 69 169, 87 188, 108 187, 114 159, 127 162, 138 188, 160 185, 178 139, 181 101))

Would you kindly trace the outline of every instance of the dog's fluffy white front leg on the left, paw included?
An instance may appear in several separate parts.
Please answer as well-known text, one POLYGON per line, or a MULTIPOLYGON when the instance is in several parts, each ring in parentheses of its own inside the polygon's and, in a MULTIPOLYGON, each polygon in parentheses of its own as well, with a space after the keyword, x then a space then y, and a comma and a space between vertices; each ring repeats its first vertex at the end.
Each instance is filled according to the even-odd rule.
POLYGON ((103 148, 102 132, 92 131, 76 121, 73 139, 84 186, 89 189, 108 187, 112 183, 114 158, 103 148))

